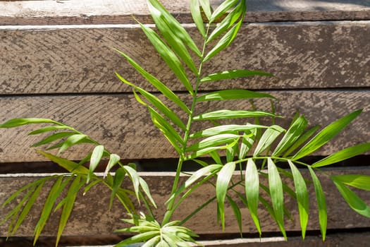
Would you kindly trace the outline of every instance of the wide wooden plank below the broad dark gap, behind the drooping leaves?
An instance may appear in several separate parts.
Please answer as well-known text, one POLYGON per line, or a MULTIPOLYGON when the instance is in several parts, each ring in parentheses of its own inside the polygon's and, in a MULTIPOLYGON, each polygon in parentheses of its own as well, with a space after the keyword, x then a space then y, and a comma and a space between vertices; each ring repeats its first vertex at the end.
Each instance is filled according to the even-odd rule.
MULTIPOLYGON (((325 170, 328 174, 370 174, 369 168, 364 167, 352 167, 351 169, 343 170, 325 170)), ((307 174, 302 171, 303 174, 307 174)), ((29 175, 28 175, 29 176, 29 175)), ((33 177, 27 177, 26 174, 18 176, 3 175, 0 179, 1 192, 0 192, 0 203, 3 203, 6 198, 11 195, 16 189, 25 183, 35 181, 39 178, 37 174, 32 175, 33 177)), ((154 200, 158 205, 158 210, 154 210, 154 214, 160 220, 165 211, 164 201, 167 199, 168 193, 171 190, 171 183, 173 181, 173 173, 156 173, 156 174, 143 174, 144 179, 151 188, 154 200)), ((238 176, 238 175, 237 175, 238 176)), ((335 189, 333 182, 328 179, 326 175, 319 175, 321 184, 324 191, 326 192, 326 200, 328 202, 328 229, 355 229, 355 228, 366 228, 370 227, 369 219, 358 215, 354 211, 350 210, 347 203, 341 198, 340 193, 335 189)), ((185 176, 181 178, 184 182, 185 176)), ((290 186, 292 181, 285 179, 285 182, 290 186)), ((242 192, 242 188, 240 188, 242 192)), ((44 190, 43 190, 44 191, 44 190)), ((47 190, 46 190, 47 191, 47 190)), ((45 192, 42 192, 45 193, 45 192)), ((363 198, 366 203, 370 203, 368 193, 365 191, 357 192, 358 195, 363 198)), ((178 211, 174 215, 174 219, 182 219, 195 210, 195 207, 202 205, 206 200, 214 196, 214 188, 209 184, 203 184, 197 190, 190 195, 185 203, 178 208, 178 211)), ((316 201, 314 200, 314 189, 312 184, 309 185, 309 196, 312 198, 310 204, 310 220, 307 230, 318 230, 319 219, 316 212, 316 201)), ((116 203, 113 205, 111 211, 107 211, 109 205, 109 190, 102 186, 94 186, 89 193, 85 196, 78 198, 75 204, 73 215, 68 222, 65 236, 109 236, 113 233, 114 229, 124 227, 121 218, 127 217, 125 212, 116 203), (99 195, 99 200, 97 200, 99 195)), ((238 201, 237 198, 234 198, 238 201)), ((287 231, 300 231, 299 216, 297 215, 297 205, 290 199, 285 198, 285 205, 292 210, 293 221, 286 220, 285 228, 287 231)), ((32 226, 37 220, 37 211, 42 208, 42 203, 35 205, 32 209, 32 217, 29 217, 23 227, 20 227, 15 236, 32 236, 32 226)), ((6 214, 10 210, 9 207, 6 209, 1 208, 1 215, 6 214)), ((257 231, 252 223, 252 219, 249 217, 247 208, 242 207, 242 226, 243 232, 246 234, 255 234, 257 231)), ((262 230, 267 232, 276 232, 278 227, 273 223, 271 217, 264 212, 259 210, 259 217, 261 219, 262 230)), ((57 214, 53 215, 53 220, 49 221, 47 227, 44 229, 43 236, 54 236, 56 234, 56 226, 58 226, 57 214)), ((238 233, 238 224, 233 219, 233 212, 230 205, 226 205, 226 230, 221 231, 221 227, 216 222, 216 205, 211 203, 204 208, 204 212, 195 215, 189 222, 186 223, 187 227, 191 227, 198 234, 235 234, 238 233)), ((0 236, 6 236, 6 225, 0 226, 0 236)))

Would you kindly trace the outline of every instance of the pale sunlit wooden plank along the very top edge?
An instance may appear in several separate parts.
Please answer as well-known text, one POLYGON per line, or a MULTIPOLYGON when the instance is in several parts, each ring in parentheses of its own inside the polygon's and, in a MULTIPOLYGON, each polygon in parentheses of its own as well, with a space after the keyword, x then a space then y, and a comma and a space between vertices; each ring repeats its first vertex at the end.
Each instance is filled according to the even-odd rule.
MULTIPOLYGON (((191 23, 189 1, 161 1, 176 18, 191 23)), ((211 0, 216 8, 221 1, 211 0)), ((296 20, 369 20, 366 0, 248 0, 247 22, 296 20)), ((145 0, 0 1, 0 25, 152 23, 145 0)))

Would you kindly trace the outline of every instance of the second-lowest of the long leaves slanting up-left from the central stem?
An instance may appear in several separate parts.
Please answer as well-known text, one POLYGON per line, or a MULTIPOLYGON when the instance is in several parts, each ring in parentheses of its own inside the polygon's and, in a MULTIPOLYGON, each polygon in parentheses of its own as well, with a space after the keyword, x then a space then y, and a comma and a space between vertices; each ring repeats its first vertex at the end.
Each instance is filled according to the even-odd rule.
MULTIPOLYGON (((118 78, 120 78, 123 81, 123 83, 126 83, 126 84, 132 86, 132 88, 135 88, 135 90, 137 90, 137 92, 140 92, 140 94, 142 96, 144 96, 145 99, 147 99, 154 107, 156 107, 156 109, 159 109, 159 111, 162 112, 165 116, 167 116, 168 119, 171 119, 171 121, 173 121, 173 123, 175 123, 177 126, 182 128, 183 130, 186 129, 186 126, 183 123, 183 121, 181 121, 180 117, 178 115, 176 115, 171 109, 169 109, 166 106, 166 104, 161 102, 161 100, 159 100, 158 97, 156 97, 152 93, 147 92, 146 90, 144 90, 140 87, 137 87, 136 85, 128 82, 127 80, 125 80, 125 78, 121 77, 118 73, 116 73, 116 76, 118 78)), ((144 104, 144 103, 142 103, 142 104, 144 104)))

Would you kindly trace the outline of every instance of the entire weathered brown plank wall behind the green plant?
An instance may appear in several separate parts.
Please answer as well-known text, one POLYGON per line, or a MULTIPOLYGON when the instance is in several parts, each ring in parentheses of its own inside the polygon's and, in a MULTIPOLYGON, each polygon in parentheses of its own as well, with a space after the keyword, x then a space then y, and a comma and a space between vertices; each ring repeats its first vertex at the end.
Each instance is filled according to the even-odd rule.
MULTIPOLYGON (((162 2, 199 43, 187 1, 162 2)), ((212 3, 217 6, 220 1, 212 3)), ((307 116, 311 125, 320 123, 325 126, 356 109, 363 109, 343 134, 315 153, 317 156, 369 142, 369 1, 249 0, 247 7, 245 23, 234 44, 204 70, 213 73, 245 68, 273 73, 273 78, 235 80, 233 86, 269 92, 280 99, 276 103, 278 114, 289 117, 299 111, 307 116)), ((130 88, 114 76, 117 71, 143 88, 154 90, 113 52, 112 47, 134 57, 164 82, 175 80, 132 20, 132 14, 143 23, 152 24, 143 0, 0 1, 0 122, 15 117, 51 118, 87 133, 123 159, 150 163, 147 160, 166 162, 174 158, 175 152, 152 126, 146 110, 135 102, 130 88)), ((172 90, 183 91, 179 83, 170 83, 169 86, 172 90)), ((227 87, 223 83, 214 83, 205 85, 202 90, 227 87)), ((186 97, 186 93, 182 95, 186 97)), ((204 110, 214 107, 214 104, 204 104, 204 110)), ((266 102, 258 104, 262 109, 269 107, 266 102)), ((246 105, 238 104, 238 107, 246 105)), ((280 123, 287 126, 289 120, 280 123)), ((52 164, 29 147, 37 140, 27 136, 30 129, 0 129, 0 172, 3 173, 0 203, 21 184, 35 176, 44 176, 35 174, 35 171, 43 167, 53 171, 50 169, 52 164), (17 169, 27 174, 16 176, 17 169), (13 175, 6 174, 8 172, 13 175)), ((66 155, 70 159, 81 159, 85 155, 85 147, 76 148, 66 155)), ((369 155, 365 155, 345 164, 347 167, 331 172, 357 173, 360 169, 370 174, 368 159, 369 155)), ((168 185, 157 186, 157 183, 171 183, 172 175, 147 174, 147 180, 155 185, 154 195, 164 198, 168 185)), ((343 234, 360 230, 367 232, 369 219, 350 212, 345 203, 337 203, 340 196, 330 181, 326 183, 328 204, 333 213, 328 227, 333 234, 338 231, 343 234)), ((211 191, 207 188, 202 190, 211 191)), ((202 190, 189 205, 197 203, 202 190)), ((95 193, 101 195, 99 191, 95 193)), ((362 194, 362 198, 370 203, 369 194, 362 194)), ((99 200, 99 207, 94 206, 94 209, 101 210, 94 217, 76 210, 66 236, 111 236, 123 212, 117 209, 106 214, 108 199, 103 197, 99 200)), ((83 198, 76 208, 89 211, 92 204, 88 200, 91 198, 83 198)), ((0 217, 5 212, 1 210, 0 217)), ((210 208, 203 217, 193 221, 191 227, 201 234, 221 234, 214 215, 215 210, 210 208), (204 227, 197 222, 209 224, 204 227)), ((318 230, 314 217, 313 214, 309 226, 312 237, 318 230)), ((271 219, 266 217, 265 222, 265 231, 277 231, 271 219)), ((33 223, 35 219, 31 217, 18 236, 32 236, 33 223)), ((247 217, 243 224, 245 232, 255 231, 247 217)), ((287 229, 299 231, 297 221, 287 224, 287 229)), ((52 236, 55 232, 51 226, 44 234, 52 236)), ((230 221, 226 233, 237 232, 237 227, 230 221)), ((0 236, 5 235, 6 226, 0 226, 0 236)), ((353 239, 348 241, 352 242, 353 239)), ((274 243, 269 244, 273 246, 274 243)), ((327 244, 331 244, 330 241, 327 244)))

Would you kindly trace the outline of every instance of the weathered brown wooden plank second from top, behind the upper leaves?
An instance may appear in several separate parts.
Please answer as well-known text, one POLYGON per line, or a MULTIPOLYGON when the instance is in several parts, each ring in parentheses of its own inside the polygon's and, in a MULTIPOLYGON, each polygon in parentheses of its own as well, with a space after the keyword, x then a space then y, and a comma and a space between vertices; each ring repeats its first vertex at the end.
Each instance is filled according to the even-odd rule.
MULTIPOLYGON (((195 28, 187 28, 199 44, 195 28)), ((276 76, 235 80, 235 88, 369 87, 369 37, 370 21, 243 25, 234 44, 203 71, 240 68, 276 76)), ((115 71, 154 90, 111 47, 127 52, 172 90, 184 90, 137 25, 5 26, 0 40, 1 94, 131 92, 115 71)), ((202 89, 226 87, 210 83, 202 89)))

